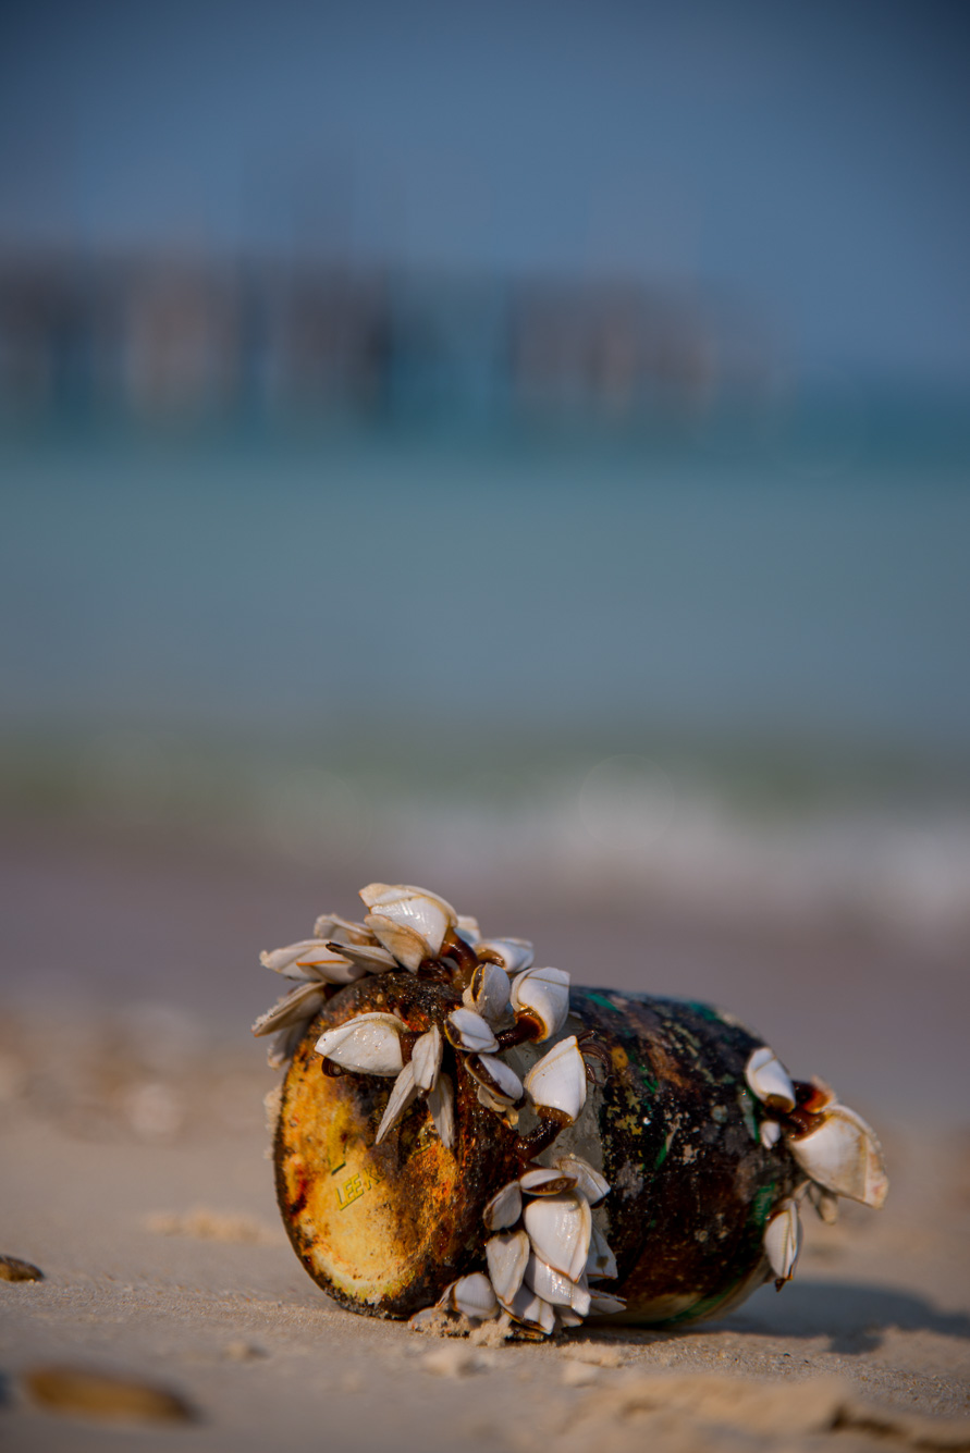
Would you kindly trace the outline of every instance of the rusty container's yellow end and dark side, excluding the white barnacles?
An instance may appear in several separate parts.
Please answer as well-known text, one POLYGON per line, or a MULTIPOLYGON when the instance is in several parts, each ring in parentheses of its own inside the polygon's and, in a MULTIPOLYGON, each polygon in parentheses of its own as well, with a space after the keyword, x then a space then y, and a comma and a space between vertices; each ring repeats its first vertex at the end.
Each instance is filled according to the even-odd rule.
MULTIPOLYGON (((483 1107, 455 1056, 455 1142, 446 1149, 422 1101, 375 1145, 385 1078, 330 1077, 318 1035, 368 1013, 397 1013, 416 1033, 461 1000, 409 974, 359 979, 329 1000, 300 1043, 282 1090, 275 1139, 276 1193, 289 1239, 337 1302, 404 1318, 481 1263, 483 1209, 522 1173, 518 1125, 483 1107)), ((593 1210, 617 1258, 609 1292, 627 1299, 612 1319, 686 1322, 724 1312, 771 1276, 765 1222, 800 1183, 784 1146, 762 1145, 762 1106, 745 1067, 762 1040, 705 1004, 573 988, 556 1039, 592 1032, 609 1072, 590 1087, 556 1152, 574 1151, 612 1191, 593 1210)), ((521 1045, 525 1075, 550 1042, 521 1045)))

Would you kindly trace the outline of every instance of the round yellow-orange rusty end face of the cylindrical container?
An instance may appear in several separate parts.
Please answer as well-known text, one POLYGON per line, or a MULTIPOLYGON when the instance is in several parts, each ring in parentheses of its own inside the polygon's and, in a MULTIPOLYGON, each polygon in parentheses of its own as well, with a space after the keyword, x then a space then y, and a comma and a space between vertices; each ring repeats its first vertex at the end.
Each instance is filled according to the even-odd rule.
POLYGON ((458 1068, 454 1149, 435 1135, 423 1100, 375 1145, 393 1081, 329 1078, 314 1043, 374 1010, 397 1011, 422 1033, 432 1011, 460 1003, 409 974, 359 981, 329 1001, 286 1074, 275 1142, 279 1207, 310 1276, 353 1311, 410 1316, 481 1254, 481 1207, 503 1167, 515 1174, 516 1138, 483 1110, 458 1068))

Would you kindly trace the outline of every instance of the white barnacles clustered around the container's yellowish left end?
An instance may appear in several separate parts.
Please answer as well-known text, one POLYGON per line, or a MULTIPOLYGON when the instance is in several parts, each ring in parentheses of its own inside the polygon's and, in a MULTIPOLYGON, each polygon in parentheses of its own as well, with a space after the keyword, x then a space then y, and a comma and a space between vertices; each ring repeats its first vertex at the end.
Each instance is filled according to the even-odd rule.
MULTIPOLYGON (((462 1004, 423 1035, 409 1035, 396 1014, 358 1014, 317 1040, 330 1072, 394 1077, 378 1126, 380 1144, 422 1096, 445 1146, 455 1135, 454 1085, 442 1069, 445 1043, 461 1056, 480 1104, 516 1125, 528 1104, 540 1122, 538 1154, 573 1125, 586 1103, 592 1069, 576 1035, 558 1039, 524 1080, 502 1056, 516 1045, 558 1035, 569 1016, 569 974, 532 965, 522 939, 483 939, 474 918, 460 917, 436 894, 407 885, 369 883, 364 923, 336 914, 317 920, 314 937, 265 953, 262 962, 297 987, 253 1032, 276 1035, 270 1064, 292 1053, 333 987, 365 974, 407 969, 433 974, 449 960, 464 978, 462 1004)), ((590 1206, 609 1191, 604 1177, 577 1155, 553 1168, 529 1165, 502 1187, 484 1212, 487 1274, 452 1282, 439 1306, 484 1319, 505 1315, 525 1328, 551 1332, 577 1325, 592 1312, 617 1312, 621 1298, 589 1290, 589 1282, 615 1277, 617 1266, 590 1206)))

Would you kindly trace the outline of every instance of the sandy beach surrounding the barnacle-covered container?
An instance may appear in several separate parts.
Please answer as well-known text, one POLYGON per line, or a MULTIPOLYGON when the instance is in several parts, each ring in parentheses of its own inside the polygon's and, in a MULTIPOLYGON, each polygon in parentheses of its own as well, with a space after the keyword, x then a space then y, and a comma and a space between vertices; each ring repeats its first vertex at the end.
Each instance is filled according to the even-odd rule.
POLYGON ((3 856, 0 1252, 44 1273, 0 1283, 4 1446, 125 1446, 135 1427, 145 1449, 970 1446, 955 953, 480 902, 580 982, 756 1019, 855 1097, 891 1175, 884 1212, 813 1219, 795 1280, 724 1321, 490 1347, 337 1309, 279 1225, 262 1107, 276 1077, 247 1035, 275 985, 256 953, 349 907, 349 883, 36 825, 3 856), (160 1388, 180 1411, 71 1411, 38 1380, 51 1367, 160 1388))

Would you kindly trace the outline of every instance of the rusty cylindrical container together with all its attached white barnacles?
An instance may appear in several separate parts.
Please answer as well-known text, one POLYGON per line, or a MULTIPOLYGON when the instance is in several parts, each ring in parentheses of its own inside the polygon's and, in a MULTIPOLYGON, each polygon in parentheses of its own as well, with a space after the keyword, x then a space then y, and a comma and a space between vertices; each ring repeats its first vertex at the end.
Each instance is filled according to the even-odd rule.
POLYGON ((284 1223, 343 1306, 534 1338, 684 1324, 781 1289, 806 1202, 883 1205, 870 1126, 731 1016, 572 989, 422 888, 361 897, 361 923, 263 953, 294 987, 253 1026, 288 1065, 284 1223))

